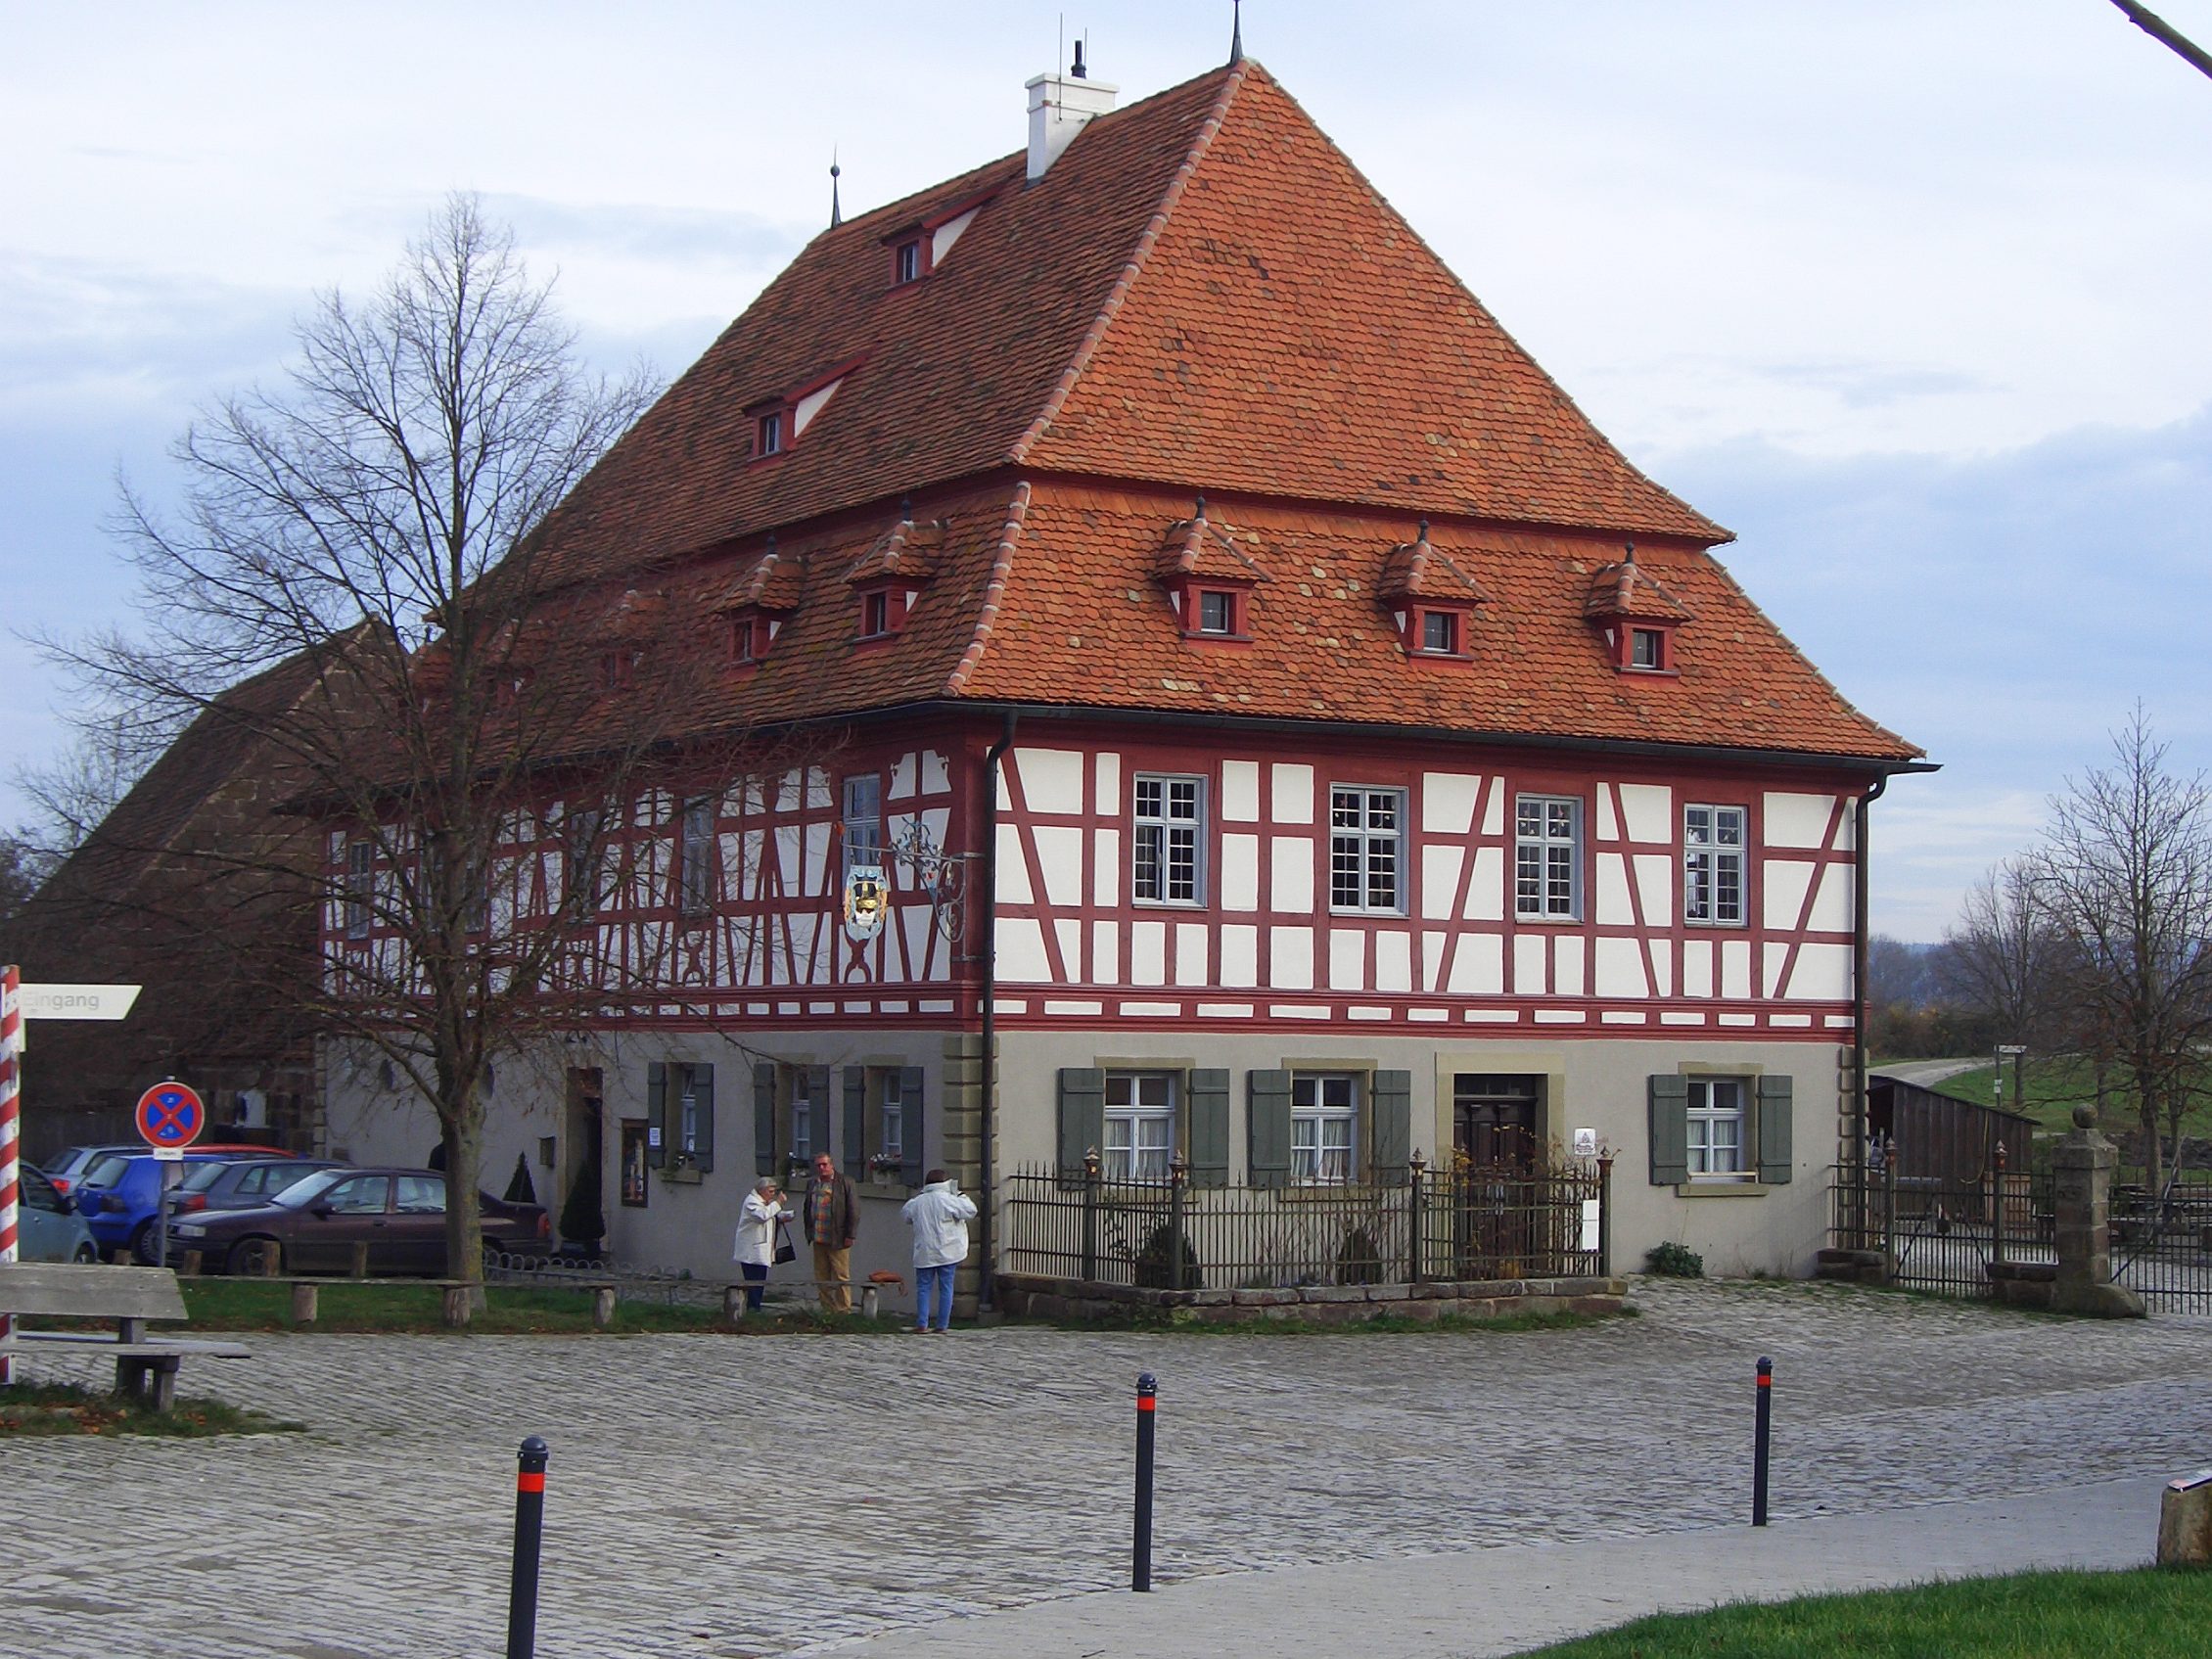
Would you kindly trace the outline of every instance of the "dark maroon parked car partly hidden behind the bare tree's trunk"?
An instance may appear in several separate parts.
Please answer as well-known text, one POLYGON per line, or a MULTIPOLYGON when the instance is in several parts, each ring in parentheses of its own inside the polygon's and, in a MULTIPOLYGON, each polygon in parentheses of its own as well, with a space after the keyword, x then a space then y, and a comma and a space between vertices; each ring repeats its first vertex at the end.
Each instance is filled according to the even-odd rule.
MULTIPOLYGON (((484 1250, 540 1254, 551 1239, 542 1206, 480 1192, 484 1250)), ((197 1250, 208 1272, 343 1274, 354 1245, 369 1248, 369 1272, 442 1276, 445 1175, 440 1170, 316 1170, 259 1210, 208 1210, 168 1230, 170 1259, 197 1250), (274 1252, 274 1256, 270 1254, 274 1252)))

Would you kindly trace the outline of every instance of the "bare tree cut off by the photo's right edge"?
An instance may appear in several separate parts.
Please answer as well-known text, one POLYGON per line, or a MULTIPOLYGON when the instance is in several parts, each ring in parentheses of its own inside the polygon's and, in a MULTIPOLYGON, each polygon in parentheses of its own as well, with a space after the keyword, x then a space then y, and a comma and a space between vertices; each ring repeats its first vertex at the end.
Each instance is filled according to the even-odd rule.
POLYGON ((2152 1186, 2212 1042, 2212 792, 2166 754, 2137 703, 2112 763, 2051 803, 2033 874, 2090 1046, 2135 1097, 2152 1186))

